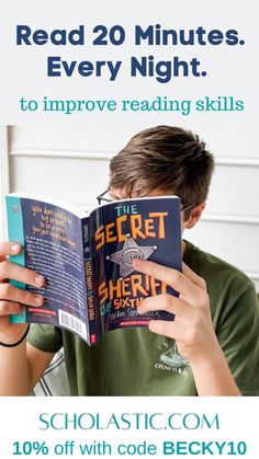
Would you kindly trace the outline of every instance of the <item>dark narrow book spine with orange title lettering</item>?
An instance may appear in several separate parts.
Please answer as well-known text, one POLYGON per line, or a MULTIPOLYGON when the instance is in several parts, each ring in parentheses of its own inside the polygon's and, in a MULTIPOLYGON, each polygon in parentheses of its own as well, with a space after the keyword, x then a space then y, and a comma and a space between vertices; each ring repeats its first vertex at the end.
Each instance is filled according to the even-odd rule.
POLYGON ((89 344, 90 346, 94 346, 95 344, 98 344, 99 341, 99 330, 98 314, 94 308, 93 266, 89 218, 83 220, 83 253, 87 283, 87 315, 89 325, 89 344))

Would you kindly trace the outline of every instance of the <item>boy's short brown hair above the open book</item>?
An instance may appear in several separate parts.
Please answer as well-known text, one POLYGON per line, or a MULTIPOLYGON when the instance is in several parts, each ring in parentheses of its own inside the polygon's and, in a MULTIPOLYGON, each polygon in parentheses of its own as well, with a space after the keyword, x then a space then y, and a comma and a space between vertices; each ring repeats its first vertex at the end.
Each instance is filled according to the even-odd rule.
POLYGON ((160 188, 187 207, 206 199, 214 169, 204 141, 190 130, 157 126, 135 135, 111 160, 110 187, 125 196, 160 188))

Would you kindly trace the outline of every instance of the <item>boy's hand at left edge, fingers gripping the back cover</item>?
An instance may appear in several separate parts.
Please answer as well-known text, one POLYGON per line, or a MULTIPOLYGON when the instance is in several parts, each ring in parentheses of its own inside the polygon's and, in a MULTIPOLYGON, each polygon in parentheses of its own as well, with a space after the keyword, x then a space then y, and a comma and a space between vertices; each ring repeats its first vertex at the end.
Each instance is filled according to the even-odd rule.
POLYGON ((42 275, 10 263, 8 255, 18 255, 22 248, 18 243, 0 243, 0 341, 12 343, 23 335, 26 324, 11 324, 10 314, 19 314, 22 306, 42 306, 44 297, 26 290, 21 290, 9 284, 9 279, 19 280, 34 287, 43 287, 45 279, 42 275))

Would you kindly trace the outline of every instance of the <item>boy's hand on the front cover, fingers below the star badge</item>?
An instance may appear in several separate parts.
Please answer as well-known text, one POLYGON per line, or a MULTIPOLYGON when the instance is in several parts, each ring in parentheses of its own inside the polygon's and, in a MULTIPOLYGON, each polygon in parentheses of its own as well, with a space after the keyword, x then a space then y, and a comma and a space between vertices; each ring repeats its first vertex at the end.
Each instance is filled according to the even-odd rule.
POLYGON ((221 348, 212 324, 205 280, 184 263, 182 273, 138 259, 134 260, 133 266, 143 274, 165 282, 180 294, 179 298, 158 295, 142 302, 138 307, 142 314, 168 311, 176 315, 174 321, 151 320, 149 330, 174 338, 180 354, 189 359, 191 366, 210 366, 221 348))

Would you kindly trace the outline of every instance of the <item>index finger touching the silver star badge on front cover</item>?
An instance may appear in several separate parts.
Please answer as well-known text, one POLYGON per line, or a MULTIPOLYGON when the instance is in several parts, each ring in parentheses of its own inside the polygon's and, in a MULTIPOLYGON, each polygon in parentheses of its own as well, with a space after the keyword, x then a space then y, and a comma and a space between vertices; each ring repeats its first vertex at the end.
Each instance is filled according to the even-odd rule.
POLYGON ((174 288, 174 290, 179 291, 179 294, 188 295, 192 291, 193 287, 195 287, 192 280, 184 274, 171 267, 139 259, 133 260, 133 267, 143 274, 147 274, 148 276, 166 283, 174 288))

